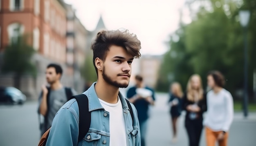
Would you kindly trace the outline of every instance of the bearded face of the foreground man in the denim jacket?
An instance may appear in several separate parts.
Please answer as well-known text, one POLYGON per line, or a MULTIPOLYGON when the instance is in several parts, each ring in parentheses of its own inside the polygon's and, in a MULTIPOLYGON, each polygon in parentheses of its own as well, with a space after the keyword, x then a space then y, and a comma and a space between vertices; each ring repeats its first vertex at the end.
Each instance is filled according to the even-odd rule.
POLYGON ((108 84, 126 88, 130 82, 133 56, 121 46, 110 46, 103 63, 102 77, 108 84))

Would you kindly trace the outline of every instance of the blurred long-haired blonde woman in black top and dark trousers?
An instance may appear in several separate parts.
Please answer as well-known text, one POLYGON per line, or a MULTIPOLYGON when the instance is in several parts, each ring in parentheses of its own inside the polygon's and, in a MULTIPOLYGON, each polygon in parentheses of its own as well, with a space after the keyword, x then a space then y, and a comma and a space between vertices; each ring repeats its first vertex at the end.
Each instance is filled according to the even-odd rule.
POLYGON ((185 127, 189 136, 189 146, 199 146, 203 128, 202 114, 207 110, 207 106, 202 80, 197 74, 189 78, 183 107, 186 110, 185 127))

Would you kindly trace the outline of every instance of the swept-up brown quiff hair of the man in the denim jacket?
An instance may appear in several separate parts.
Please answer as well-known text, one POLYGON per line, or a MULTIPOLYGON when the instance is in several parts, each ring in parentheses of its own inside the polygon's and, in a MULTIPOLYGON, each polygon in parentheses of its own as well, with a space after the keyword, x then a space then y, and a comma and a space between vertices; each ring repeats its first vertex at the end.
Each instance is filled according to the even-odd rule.
POLYGON ((134 33, 130 33, 127 29, 99 31, 91 45, 91 49, 93 51, 93 65, 97 75, 98 70, 95 65, 95 59, 99 58, 105 61, 109 48, 112 45, 123 47, 130 55, 133 56, 133 58, 139 58, 141 56, 139 53, 141 43, 138 40, 137 35, 134 33))

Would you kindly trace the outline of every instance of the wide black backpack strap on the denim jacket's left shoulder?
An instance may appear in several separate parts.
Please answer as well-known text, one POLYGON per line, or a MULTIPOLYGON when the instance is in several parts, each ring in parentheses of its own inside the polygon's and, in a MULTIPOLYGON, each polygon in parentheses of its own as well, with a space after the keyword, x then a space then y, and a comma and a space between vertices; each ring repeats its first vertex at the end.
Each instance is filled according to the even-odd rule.
POLYGON ((72 96, 75 98, 79 107, 79 136, 78 141, 88 133, 91 124, 91 113, 89 112, 88 97, 84 94, 72 96))

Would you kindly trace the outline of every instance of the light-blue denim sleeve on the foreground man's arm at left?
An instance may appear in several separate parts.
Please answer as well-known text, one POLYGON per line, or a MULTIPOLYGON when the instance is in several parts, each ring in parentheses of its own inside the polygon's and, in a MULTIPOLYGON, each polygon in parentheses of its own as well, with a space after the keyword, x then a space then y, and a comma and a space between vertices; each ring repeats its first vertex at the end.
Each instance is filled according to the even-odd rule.
POLYGON ((55 115, 46 146, 76 146, 79 126, 69 108, 62 108, 55 115))

